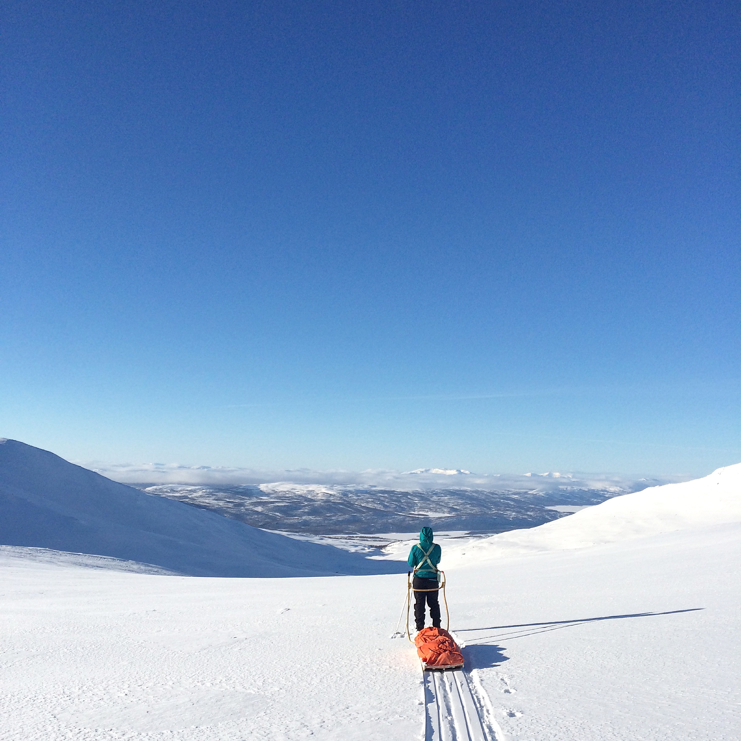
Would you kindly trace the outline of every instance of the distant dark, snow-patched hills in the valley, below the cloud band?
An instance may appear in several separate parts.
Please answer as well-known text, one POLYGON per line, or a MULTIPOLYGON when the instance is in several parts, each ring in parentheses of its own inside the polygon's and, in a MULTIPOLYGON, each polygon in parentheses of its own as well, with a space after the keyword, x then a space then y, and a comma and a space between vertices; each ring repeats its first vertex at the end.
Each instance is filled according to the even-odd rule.
MULTIPOLYGON (((503 488, 433 488, 399 491, 369 486, 247 484, 193 486, 136 484, 147 494, 219 512, 256 528, 301 534, 435 531, 495 534, 532 528, 565 516, 548 507, 596 505, 626 491, 614 486, 580 488, 568 479, 550 491, 503 488)), ((645 487, 640 487, 645 488, 645 487)))

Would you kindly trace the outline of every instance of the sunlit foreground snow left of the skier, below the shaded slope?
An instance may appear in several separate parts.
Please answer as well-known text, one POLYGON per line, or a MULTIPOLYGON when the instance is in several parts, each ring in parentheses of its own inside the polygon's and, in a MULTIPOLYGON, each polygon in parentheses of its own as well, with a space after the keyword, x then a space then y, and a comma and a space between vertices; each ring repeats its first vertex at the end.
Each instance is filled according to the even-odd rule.
POLYGON ((3 574, 3 739, 419 736, 393 579, 3 574))

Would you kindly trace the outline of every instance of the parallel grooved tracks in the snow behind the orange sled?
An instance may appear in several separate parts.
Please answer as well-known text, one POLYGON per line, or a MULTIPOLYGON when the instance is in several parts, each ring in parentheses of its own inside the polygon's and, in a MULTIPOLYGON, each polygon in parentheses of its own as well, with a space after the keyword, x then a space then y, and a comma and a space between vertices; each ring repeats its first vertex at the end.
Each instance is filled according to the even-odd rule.
POLYGON ((425 671, 425 741, 503 741, 484 688, 462 669, 425 671), (478 700, 478 702, 476 702, 478 700))

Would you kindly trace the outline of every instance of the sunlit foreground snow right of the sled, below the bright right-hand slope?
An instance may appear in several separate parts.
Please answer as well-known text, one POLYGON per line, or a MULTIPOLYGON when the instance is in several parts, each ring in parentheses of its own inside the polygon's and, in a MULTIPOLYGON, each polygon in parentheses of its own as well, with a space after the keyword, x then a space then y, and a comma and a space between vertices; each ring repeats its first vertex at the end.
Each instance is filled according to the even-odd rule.
POLYGON ((448 599, 506 739, 731 741, 740 567, 717 525, 450 569, 448 599))

